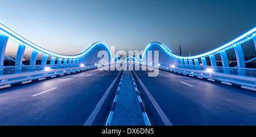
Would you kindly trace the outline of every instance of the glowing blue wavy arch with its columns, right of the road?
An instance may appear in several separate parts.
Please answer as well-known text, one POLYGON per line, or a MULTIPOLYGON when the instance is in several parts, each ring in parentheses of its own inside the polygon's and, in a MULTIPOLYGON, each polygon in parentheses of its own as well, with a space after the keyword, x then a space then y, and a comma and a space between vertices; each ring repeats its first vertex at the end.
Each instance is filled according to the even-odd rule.
MULTIPOLYGON (((166 45, 161 44, 159 42, 152 42, 147 45, 144 49, 142 59, 142 63, 147 63, 147 51, 159 51, 159 64, 160 65, 170 65, 170 64, 187 64, 187 65, 200 65, 199 59, 202 62, 202 65, 207 65, 205 57, 210 58, 210 62, 212 66, 216 66, 216 59, 214 55, 220 54, 222 60, 223 67, 229 67, 228 57, 226 55, 226 51, 228 49, 234 48, 237 57, 237 67, 245 68, 245 60, 243 56, 242 46, 241 44, 245 43, 248 40, 253 39, 255 49, 256 49, 256 27, 252 30, 246 32, 245 34, 239 36, 238 38, 213 49, 212 51, 205 52, 200 55, 195 56, 178 56, 172 53, 172 51, 166 47, 166 45)), ((154 63, 154 53, 152 53, 152 63, 154 63)))

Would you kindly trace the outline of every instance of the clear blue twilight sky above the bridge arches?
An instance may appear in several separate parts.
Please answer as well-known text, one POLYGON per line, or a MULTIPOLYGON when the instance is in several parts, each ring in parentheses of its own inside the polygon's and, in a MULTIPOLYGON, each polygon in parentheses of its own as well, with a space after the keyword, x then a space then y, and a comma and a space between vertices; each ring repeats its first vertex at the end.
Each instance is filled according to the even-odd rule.
POLYGON ((76 55, 96 41, 115 45, 116 51, 141 51, 158 41, 179 54, 181 40, 188 56, 256 27, 256 1, 8 0, 1 2, 0 16, 0 23, 17 34, 64 55, 76 55))

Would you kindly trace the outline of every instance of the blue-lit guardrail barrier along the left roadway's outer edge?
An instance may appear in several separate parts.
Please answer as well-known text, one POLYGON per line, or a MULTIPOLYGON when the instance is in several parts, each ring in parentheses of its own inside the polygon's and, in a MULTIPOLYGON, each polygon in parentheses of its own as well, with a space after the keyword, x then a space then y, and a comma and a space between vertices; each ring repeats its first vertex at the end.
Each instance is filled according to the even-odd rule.
POLYGON ((57 76, 65 73, 79 72, 81 70, 100 68, 103 65, 84 64, 53 64, 0 67, 0 86, 16 82, 35 80, 38 78, 57 76))

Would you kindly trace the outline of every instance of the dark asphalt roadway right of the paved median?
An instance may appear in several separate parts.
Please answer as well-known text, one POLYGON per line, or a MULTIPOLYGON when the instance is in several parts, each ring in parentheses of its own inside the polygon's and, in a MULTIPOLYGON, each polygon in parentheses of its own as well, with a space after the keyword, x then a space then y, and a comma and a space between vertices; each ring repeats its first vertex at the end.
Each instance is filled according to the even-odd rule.
POLYGON ((255 125, 256 93, 159 70, 135 71, 173 125, 255 125))

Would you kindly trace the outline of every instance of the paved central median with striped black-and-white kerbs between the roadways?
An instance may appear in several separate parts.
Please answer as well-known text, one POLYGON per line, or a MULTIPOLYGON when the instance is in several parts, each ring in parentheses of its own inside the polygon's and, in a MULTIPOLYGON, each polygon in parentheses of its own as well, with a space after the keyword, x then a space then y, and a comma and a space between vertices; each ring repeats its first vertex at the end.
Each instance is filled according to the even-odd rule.
POLYGON ((135 90, 133 78, 129 70, 123 71, 123 76, 109 114, 107 126, 145 126, 144 109, 138 90, 135 90), (144 114, 143 114, 144 113, 144 114))

